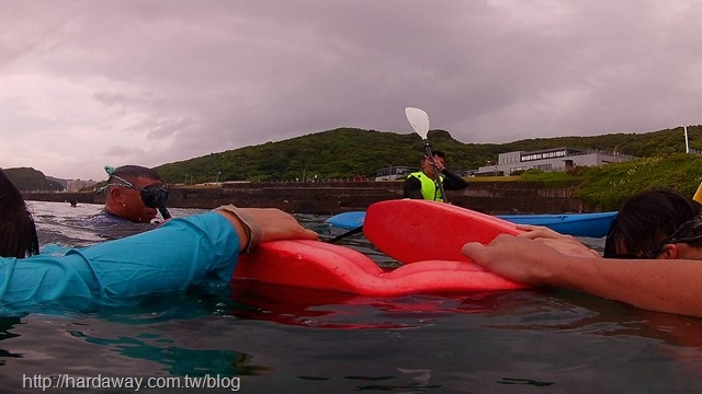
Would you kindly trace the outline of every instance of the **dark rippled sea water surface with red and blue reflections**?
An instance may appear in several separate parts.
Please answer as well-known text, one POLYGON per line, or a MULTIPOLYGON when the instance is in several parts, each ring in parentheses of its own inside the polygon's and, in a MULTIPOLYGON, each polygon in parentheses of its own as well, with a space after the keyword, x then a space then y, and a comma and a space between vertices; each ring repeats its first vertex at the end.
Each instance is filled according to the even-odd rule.
MULTIPOLYGON (((81 224, 101 206, 30 206, 44 243, 105 240, 81 224)), ((339 233, 327 217, 297 218, 339 233)), ((340 244, 394 263, 360 234, 340 244)), ((700 391, 702 320, 558 289, 363 298, 254 286, 0 315, 1 393, 700 391)))

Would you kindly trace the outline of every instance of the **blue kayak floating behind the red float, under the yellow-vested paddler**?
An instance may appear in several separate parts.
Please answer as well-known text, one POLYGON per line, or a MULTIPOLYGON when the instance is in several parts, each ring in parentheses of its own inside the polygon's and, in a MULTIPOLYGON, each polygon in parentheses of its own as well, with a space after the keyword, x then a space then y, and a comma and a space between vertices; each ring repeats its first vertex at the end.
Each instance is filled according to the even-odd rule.
MULTIPOLYGON (((546 213, 546 215, 497 215, 497 218, 517 224, 543 225, 562 234, 573 236, 601 237, 614 220, 616 211, 596 213, 546 213)), ((355 229, 363 225, 365 211, 343 212, 327 219, 327 223, 340 229, 355 229)))

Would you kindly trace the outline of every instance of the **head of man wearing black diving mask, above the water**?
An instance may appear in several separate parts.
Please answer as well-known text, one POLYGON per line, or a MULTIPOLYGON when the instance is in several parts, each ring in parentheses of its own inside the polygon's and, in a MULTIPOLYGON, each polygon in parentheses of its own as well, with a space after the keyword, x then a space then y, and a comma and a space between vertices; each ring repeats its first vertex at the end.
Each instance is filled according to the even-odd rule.
POLYGON ((166 211, 168 192, 158 173, 140 165, 105 166, 110 174, 105 210, 123 219, 148 223, 157 209, 166 211))

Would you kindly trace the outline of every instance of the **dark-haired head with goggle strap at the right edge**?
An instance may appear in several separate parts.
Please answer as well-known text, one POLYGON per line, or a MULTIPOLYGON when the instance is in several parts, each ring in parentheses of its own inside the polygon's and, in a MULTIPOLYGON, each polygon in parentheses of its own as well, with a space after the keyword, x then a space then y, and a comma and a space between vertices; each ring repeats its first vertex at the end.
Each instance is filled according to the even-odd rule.
MULTIPOLYGON (((656 258, 676 244, 699 250, 701 213, 702 205, 676 192, 648 190, 630 197, 610 225, 604 257, 656 258)), ((676 257, 680 258, 677 254, 669 258, 676 257)))

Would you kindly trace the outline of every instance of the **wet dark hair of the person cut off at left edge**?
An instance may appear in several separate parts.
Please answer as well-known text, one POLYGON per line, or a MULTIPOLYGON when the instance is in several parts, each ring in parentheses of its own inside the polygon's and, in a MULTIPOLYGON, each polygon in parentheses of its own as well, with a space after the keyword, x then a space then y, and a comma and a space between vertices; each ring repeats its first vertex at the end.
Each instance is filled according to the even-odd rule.
POLYGON ((0 256, 24 258, 38 253, 32 213, 20 190, 0 170, 0 256))

